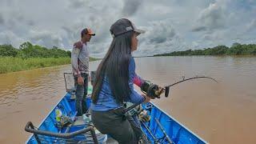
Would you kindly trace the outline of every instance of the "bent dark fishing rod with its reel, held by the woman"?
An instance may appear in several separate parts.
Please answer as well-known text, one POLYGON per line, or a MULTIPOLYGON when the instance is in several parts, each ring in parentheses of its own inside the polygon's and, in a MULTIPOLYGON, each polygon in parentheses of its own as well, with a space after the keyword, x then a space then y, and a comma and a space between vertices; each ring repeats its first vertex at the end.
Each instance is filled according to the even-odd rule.
MULTIPOLYGON (((153 83, 151 83, 149 81, 146 81, 146 82, 144 82, 142 84, 141 90, 142 90, 142 93, 146 94, 146 96, 149 96, 152 99, 160 98, 160 95, 163 94, 163 93, 165 93, 165 97, 167 98, 169 96, 169 92, 170 92, 170 87, 171 86, 175 86, 178 83, 190 81, 192 79, 197 79, 197 78, 208 78, 208 79, 210 79, 210 80, 212 80, 214 82, 218 82, 214 78, 206 77, 206 76, 195 76, 195 77, 192 77, 192 78, 185 78, 184 76, 182 76, 182 80, 181 81, 174 82, 171 85, 163 86, 163 87, 155 85, 155 84, 153 84, 153 83)), ((142 104, 142 103, 137 103, 137 104, 134 104, 134 105, 132 105, 130 107, 127 107, 124 110, 124 113, 128 112, 129 110, 134 109, 134 107, 136 107, 136 106, 138 106, 140 104, 142 104)))

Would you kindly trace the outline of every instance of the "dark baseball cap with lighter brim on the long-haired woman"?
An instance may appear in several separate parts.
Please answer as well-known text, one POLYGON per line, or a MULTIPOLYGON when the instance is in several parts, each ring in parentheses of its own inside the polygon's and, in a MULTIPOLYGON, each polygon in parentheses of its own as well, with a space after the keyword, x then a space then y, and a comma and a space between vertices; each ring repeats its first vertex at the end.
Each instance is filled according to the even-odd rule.
POLYGON ((126 18, 118 19, 117 22, 114 22, 114 24, 110 26, 110 33, 113 37, 117 37, 118 35, 125 34, 130 31, 134 31, 137 35, 145 33, 145 30, 137 29, 134 26, 134 23, 130 22, 130 20, 126 18))

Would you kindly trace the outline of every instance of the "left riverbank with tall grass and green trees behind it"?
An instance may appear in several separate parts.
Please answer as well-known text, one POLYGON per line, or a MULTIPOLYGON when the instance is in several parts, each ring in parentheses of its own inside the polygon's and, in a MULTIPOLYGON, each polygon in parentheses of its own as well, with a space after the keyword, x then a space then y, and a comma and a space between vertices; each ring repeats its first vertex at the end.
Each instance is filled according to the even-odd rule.
MULTIPOLYGON (((71 52, 24 42, 18 48, 0 45, 0 74, 70 64, 71 52)), ((90 58, 90 61, 98 58, 90 58)))

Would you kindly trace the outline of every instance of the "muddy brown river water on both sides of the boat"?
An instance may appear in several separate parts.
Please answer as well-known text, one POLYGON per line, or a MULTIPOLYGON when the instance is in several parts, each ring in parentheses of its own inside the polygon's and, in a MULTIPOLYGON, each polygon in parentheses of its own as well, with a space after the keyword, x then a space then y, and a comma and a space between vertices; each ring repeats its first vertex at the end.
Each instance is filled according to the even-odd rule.
MULTIPOLYGON (((142 78, 161 86, 182 76, 210 76, 183 82, 169 98, 153 100, 210 143, 256 143, 256 57, 135 58, 142 78)), ((90 62, 95 70, 98 62, 90 62)), ((38 126, 65 94, 70 65, 0 74, 0 143, 24 143, 26 122, 38 126)))

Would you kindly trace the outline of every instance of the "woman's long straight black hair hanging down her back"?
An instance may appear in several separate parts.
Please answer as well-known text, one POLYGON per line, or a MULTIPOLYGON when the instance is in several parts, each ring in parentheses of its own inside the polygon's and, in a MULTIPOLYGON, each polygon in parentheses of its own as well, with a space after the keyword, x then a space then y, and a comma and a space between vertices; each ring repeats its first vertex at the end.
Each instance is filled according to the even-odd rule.
POLYGON ((110 82, 110 89, 116 102, 122 103, 130 97, 131 90, 128 81, 133 34, 134 32, 130 31, 113 38, 110 49, 102 59, 96 72, 92 93, 92 100, 95 104, 98 101, 98 94, 105 76, 110 82))

